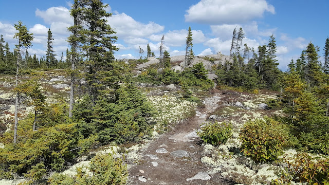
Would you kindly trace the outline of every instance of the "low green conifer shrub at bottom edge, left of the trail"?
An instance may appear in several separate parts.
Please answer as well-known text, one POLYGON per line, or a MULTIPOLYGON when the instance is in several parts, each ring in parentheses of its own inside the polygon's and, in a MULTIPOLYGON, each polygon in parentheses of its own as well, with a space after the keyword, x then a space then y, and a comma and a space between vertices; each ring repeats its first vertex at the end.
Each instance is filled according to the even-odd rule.
POLYGON ((126 184, 128 171, 121 159, 114 159, 112 155, 96 155, 87 167, 92 175, 82 168, 77 168, 77 174, 70 177, 64 174, 54 174, 48 182, 51 185, 60 184, 126 184))

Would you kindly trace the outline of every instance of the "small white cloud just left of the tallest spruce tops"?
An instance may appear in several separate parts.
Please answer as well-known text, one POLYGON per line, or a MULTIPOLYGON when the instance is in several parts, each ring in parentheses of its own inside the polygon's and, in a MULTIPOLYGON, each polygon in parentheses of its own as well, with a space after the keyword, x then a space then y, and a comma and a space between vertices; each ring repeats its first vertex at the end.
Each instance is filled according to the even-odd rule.
POLYGON ((51 7, 45 11, 36 9, 35 16, 43 18, 43 20, 48 24, 53 22, 73 24, 70 12, 65 7, 51 7))

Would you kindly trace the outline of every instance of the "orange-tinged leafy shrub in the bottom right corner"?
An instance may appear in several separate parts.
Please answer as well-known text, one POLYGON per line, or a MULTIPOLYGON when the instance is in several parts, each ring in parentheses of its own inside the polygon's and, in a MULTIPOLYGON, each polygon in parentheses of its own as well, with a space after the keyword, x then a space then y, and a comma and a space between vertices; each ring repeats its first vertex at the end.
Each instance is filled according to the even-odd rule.
POLYGON ((307 153, 294 158, 294 161, 288 161, 288 169, 295 176, 295 181, 329 184, 329 159, 313 158, 307 153))

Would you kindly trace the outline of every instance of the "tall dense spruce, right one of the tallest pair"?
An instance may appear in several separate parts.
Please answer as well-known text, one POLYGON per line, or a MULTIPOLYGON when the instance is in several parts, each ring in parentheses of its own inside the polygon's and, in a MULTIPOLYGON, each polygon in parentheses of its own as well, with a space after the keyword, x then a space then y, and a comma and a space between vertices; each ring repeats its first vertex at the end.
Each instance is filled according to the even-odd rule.
POLYGON ((82 49, 86 53, 86 66, 89 66, 86 74, 86 82, 89 93, 97 99, 100 90, 106 87, 118 88, 119 71, 114 65, 114 51, 118 48, 114 45, 117 40, 113 36, 116 32, 107 24, 107 18, 111 13, 106 13, 106 7, 100 0, 86 0, 83 2, 82 18, 83 27, 82 49))

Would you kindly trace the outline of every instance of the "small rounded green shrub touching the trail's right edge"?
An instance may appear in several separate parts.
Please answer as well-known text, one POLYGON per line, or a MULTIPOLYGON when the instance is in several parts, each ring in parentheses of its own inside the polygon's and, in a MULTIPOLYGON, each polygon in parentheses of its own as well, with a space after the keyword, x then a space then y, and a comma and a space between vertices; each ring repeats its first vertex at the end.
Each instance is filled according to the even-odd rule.
POLYGON ((232 124, 226 122, 206 123, 197 134, 205 143, 217 146, 232 136, 232 124))

